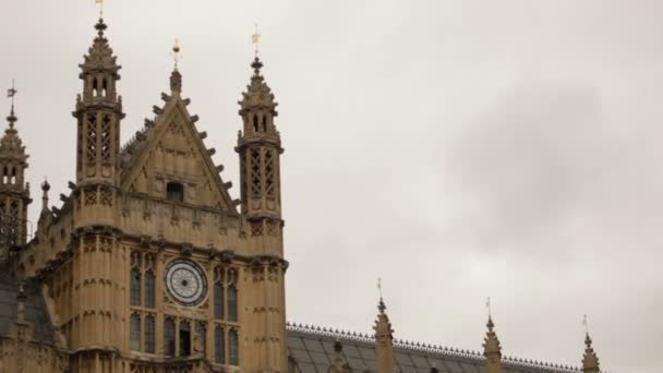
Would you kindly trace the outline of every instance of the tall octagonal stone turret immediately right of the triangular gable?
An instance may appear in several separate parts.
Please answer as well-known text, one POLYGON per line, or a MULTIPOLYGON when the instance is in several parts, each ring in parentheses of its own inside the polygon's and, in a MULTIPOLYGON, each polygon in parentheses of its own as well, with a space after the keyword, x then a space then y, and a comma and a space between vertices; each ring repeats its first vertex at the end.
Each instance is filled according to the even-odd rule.
POLYGON ((240 158, 241 219, 245 229, 245 252, 267 260, 251 266, 252 320, 245 320, 252 335, 246 353, 255 359, 246 366, 256 372, 285 372, 287 369, 286 289, 280 191, 280 134, 274 118, 276 101, 261 74, 256 57, 253 75, 239 101, 242 130, 234 148, 240 158), (279 264, 280 263, 280 264, 279 264))

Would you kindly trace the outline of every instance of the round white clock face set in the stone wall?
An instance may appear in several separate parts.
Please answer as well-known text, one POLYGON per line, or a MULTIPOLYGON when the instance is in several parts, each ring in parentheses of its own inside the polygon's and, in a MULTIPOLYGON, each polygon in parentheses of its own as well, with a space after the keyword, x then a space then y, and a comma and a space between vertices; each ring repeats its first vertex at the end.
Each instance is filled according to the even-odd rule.
POLYGON ((166 287, 178 302, 194 305, 207 293, 207 278, 197 264, 188 260, 174 260, 166 267, 166 287))

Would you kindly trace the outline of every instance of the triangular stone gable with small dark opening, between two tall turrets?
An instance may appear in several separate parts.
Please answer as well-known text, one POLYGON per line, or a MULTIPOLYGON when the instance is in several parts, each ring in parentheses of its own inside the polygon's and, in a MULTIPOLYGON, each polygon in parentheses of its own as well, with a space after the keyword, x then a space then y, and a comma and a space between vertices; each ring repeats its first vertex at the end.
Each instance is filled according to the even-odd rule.
POLYGON ((135 146, 122 172, 123 190, 166 197, 168 183, 177 182, 184 186, 185 203, 237 210, 179 95, 141 135, 144 144, 135 146))

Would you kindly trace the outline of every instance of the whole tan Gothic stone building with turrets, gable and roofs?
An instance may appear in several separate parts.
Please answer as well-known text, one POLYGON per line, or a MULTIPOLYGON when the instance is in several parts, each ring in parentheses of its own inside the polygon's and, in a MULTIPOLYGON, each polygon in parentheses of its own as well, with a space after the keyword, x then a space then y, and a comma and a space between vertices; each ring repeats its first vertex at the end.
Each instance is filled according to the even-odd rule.
MULTIPOLYGON (((240 200, 196 130, 182 76, 124 146, 120 65, 106 24, 81 68, 76 179, 27 234, 28 155, 14 109, 0 141, 0 372, 599 372, 398 341, 381 300, 374 335, 286 323, 276 101, 256 57, 236 151, 240 200)), ((73 136, 73 131, 71 132, 73 136)))

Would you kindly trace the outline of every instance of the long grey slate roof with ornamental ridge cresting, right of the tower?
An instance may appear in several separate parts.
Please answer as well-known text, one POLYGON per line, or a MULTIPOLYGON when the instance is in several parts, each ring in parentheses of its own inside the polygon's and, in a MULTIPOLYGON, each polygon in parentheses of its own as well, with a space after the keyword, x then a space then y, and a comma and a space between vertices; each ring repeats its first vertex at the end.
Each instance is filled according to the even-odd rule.
MULTIPOLYGON (((351 372, 377 372, 375 341, 365 335, 332 332, 288 324, 289 372, 327 373, 334 361, 334 342, 342 344, 343 358, 351 372)), ((441 373, 486 373, 485 358, 474 351, 423 346, 406 341, 395 341, 394 358, 396 372, 429 373, 432 366, 441 373)), ((504 373, 570 373, 578 368, 503 358, 504 373)))

